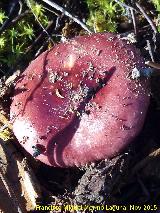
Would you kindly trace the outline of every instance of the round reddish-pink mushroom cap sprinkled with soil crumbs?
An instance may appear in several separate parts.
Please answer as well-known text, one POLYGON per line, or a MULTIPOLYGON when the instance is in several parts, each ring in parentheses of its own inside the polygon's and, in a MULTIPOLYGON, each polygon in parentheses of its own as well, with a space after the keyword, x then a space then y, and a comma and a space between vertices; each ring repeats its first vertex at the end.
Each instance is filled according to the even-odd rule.
POLYGON ((38 56, 16 83, 10 116, 20 144, 50 166, 81 166, 120 153, 140 132, 149 79, 140 52, 95 33, 38 56))

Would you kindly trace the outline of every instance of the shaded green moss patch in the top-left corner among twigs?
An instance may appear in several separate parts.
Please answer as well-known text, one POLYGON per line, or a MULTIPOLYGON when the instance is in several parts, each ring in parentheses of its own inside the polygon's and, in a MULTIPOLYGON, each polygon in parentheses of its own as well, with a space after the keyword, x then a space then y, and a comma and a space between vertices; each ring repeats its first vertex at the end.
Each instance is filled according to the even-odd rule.
MULTIPOLYGON (((49 23, 47 13, 42 5, 34 1, 31 1, 30 5, 31 8, 28 7, 29 14, 26 14, 14 26, 10 26, 0 35, 0 64, 3 64, 3 67, 7 70, 15 68, 16 62, 21 56, 29 56, 28 54, 25 55, 26 49, 32 45, 36 36, 42 32, 36 18, 44 28, 49 23)), ((27 5, 23 8, 25 11, 27 5)), ((7 18, 5 11, 1 9, 0 26, 7 18)))

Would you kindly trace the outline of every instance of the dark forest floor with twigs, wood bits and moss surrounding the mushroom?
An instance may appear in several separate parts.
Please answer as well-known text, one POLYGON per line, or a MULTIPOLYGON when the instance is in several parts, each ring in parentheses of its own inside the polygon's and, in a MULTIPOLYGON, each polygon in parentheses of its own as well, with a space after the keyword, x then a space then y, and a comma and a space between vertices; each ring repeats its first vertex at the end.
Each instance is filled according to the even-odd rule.
POLYGON ((137 212, 160 212, 159 76, 151 79, 151 103, 141 133, 132 145, 113 159, 105 159, 83 168, 46 166, 35 161, 18 145, 8 123, 17 76, 31 59, 53 46, 53 43, 87 34, 81 21, 88 20, 90 26, 87 29, 92 31, 111 30, 125 36, 134 35, 135 45, 145 60, 160 63, 160 20, 154 1, 109 1, 121 7, 116 8, 119 12, 111 8, 114 16, 105 17, 106 21, 110 19, 114 22, 114 29, 100 25, 99 19, 95 20, 98 23, 96 26, 92 25, 93 20, 88 18, 90 7, 86 3, 89 1, 57 0, 54 2, 59 5, 58 9, 38 1, 45 9, 33 10, 31 18, 28 14, 33 11, 23 1, 9 2, 0 3, 0 8, 7 16, 6 19, 2 18, 4 13, 0 11, 0 210, 4 213, 105 213, 113 212, 113 208, 117 208, 117 212, 134 212, 138 208, 137 212), (39 17, 38 21, 36 17, 39 17), (23 24, 28 26, 28 30, 23 24), (30 26, 36 29, 34 33, 30 26), (7 42, 10 42, 9 46, 7 42), (7 125, 7 129, 4 125, 7 125), (42 208, 36 211, 35 205, 52 205, 55 209, 43 211, 42 208), (73 206, 74 211, 67 209, 73 206), (79 210, 76 209, 78 206, 79 210))

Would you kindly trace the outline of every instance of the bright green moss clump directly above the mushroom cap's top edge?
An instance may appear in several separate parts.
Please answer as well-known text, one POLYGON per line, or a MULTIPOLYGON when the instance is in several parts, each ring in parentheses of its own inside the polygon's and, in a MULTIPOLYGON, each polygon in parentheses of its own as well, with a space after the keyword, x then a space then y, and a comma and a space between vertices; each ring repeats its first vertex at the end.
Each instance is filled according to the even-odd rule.
POLYGON ((86 0, 89 17, 87 24, 95 32, 115 32, 117 15, 124 12, 123 8, 112 0, 86 0))

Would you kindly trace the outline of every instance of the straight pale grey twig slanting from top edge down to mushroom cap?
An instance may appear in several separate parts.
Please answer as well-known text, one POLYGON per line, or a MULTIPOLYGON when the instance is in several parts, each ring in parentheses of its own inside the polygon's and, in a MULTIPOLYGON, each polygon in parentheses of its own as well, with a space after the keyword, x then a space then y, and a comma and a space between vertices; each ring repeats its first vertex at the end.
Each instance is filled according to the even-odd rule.
POLYGON ((42 1, 44 1, 45 3, 50 5, 51 7, 55 8, 56 10, 60 11, 64 15, 71 18, 73 21, 75 21, 77 24, 79 24, 84 30, 86 30, 89 34, 92 33, 92 31, 89 30, 88 27, 82 21, 80 21, 78 18, 72 16, 72 14, 70 14, 68 11, 66 11, 63 7, 59 6, 58 4, 56 4, 54 2, 51 2, 50 0, 42 0, 42 1))

